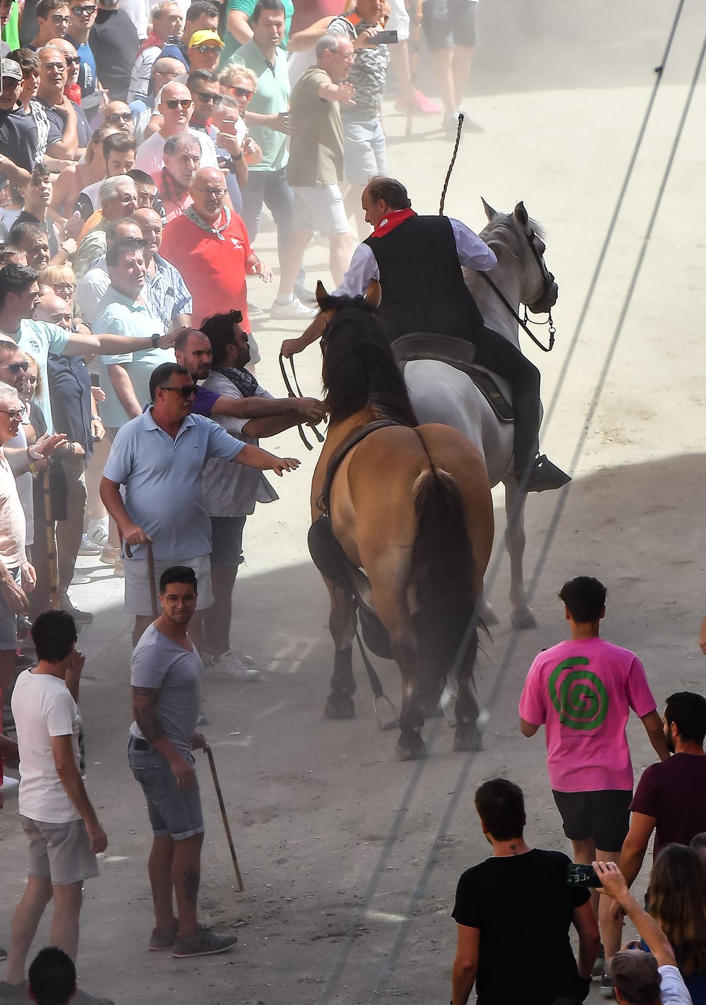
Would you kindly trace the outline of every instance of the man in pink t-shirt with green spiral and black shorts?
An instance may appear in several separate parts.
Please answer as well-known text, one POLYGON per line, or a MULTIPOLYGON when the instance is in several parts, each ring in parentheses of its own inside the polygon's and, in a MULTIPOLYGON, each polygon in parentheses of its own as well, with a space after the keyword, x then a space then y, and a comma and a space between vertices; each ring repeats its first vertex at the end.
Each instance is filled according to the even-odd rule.
MULTIPOLYGON (((520 698, 520 729, 533 737, 544 726, 549 781, 574 861, 617 862, 633 798, 626 737, 631 709, 662 761, 669 757, 664 727, 638 657, 599 637, 605 616, 602 583, 578 576, 564 584, 559 598, 571 637, 540 652, 532 663, 520 698)), ((608 897, 600 901, 607 961, 621 948, 622 929, 610 917, 608 897)), ((601 992, 610 990, 603 976, 601 992)))

